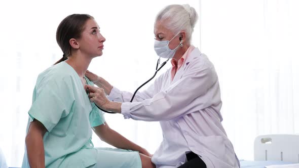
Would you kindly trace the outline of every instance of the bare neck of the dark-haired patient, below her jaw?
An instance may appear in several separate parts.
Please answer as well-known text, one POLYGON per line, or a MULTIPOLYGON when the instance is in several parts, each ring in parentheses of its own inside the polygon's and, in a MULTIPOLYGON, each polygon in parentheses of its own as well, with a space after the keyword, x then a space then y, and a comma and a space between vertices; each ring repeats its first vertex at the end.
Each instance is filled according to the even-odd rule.
POLYGON ((65 62, 78 73, 80 78, 83 78, 91 60, 91 57, 74 53, 65 62))

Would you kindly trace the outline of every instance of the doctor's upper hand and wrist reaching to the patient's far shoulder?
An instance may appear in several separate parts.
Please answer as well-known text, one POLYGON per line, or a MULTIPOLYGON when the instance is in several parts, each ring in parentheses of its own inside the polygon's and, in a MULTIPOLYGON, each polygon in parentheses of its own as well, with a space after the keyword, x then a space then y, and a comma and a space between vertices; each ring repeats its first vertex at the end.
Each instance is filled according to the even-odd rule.
POLYGON ((113 86, 111 86, 110 83, 107 82, 104 78, 92 73, 89 70, 85 72, 85 76, 88 77, 89 80, 95 83, 95 85, 97 85, 99 88, 103 88, 107 95, 110 94, 113 86))

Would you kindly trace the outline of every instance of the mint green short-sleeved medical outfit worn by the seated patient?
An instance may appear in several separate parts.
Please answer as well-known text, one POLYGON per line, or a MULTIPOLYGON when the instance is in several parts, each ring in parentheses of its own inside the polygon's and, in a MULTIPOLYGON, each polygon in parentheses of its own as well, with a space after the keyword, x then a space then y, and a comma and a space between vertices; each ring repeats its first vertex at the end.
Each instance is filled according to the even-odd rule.
MULTIPOLYGON (((93 147, 92 127, 105 119, 65 62, 39 75, 28 114, 26 132, 34 118, 48 130, 43 139, 46 167, 141 167, 137 152, 93 147)), ((29 167, 26 147, 22 167, 29 167)))

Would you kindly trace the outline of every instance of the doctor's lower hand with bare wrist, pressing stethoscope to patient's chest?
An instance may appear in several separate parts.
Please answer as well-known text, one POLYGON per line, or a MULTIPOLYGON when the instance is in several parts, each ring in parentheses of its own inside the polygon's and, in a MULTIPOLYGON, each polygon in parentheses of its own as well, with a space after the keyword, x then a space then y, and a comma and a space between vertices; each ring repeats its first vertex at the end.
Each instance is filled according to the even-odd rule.
POLYGON ((121 113, 122 103, 120 102, 111 102, 106 98, 104 89, 86 85, 85 89, 87 90, 89 100, 94 102, 103 110, 121 113))

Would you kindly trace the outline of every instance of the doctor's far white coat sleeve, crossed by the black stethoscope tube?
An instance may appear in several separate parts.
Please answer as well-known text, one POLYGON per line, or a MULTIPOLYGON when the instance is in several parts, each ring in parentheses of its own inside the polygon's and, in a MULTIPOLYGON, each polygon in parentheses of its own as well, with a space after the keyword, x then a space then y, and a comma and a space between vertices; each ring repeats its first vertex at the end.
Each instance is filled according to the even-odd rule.
MULTIPOLYGON (((155 81, 156 83, 157 81, 155 81)), ((154 95, 154 89, 155 89, 155 83, 153 83, 151 86, 149 86, 146 90, 142 92, 137 92, 133 102, 141 102, 145 99, 150 99, 154 95)), ((116 101, 116 102, 130 102, 132 99, 134 93, 126 92, 126 91, 120 91, 116 87, 113 87, 110 94, 107 96, 107 98, 110 101, 116 101)))

